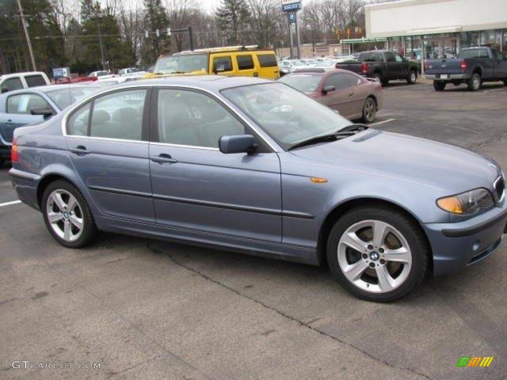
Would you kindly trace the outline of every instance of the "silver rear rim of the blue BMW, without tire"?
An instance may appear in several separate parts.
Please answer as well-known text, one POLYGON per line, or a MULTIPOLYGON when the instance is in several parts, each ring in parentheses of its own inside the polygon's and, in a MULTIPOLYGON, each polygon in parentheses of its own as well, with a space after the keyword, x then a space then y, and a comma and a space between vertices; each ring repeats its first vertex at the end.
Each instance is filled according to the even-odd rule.
POLYGON ((66 242, 74 242, 83 233, 83 210, 72 194, 54 190, 46 203, 46 215, 51 229, 66 242))

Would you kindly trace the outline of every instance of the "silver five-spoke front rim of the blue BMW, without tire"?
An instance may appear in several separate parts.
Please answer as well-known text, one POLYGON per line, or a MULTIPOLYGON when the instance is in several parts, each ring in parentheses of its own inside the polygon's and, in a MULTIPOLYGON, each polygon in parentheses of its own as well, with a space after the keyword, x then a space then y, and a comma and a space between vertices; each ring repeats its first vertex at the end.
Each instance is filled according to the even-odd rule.
POLYGON ((405 237, 389 223, 364 220, 351 225, 338 242, 338 264, 355 286, 386 293, 407 280, 412 253, 405 237))

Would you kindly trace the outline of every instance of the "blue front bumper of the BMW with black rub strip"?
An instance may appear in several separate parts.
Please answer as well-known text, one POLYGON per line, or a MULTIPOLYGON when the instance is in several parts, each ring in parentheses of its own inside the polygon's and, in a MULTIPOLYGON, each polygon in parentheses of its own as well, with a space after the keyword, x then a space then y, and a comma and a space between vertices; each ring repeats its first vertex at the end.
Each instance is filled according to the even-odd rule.
POLYGON ((455 273, 490 256, 507 234, 507 202, 458 223, 422 224, 433 252, 435 276, 455 273))

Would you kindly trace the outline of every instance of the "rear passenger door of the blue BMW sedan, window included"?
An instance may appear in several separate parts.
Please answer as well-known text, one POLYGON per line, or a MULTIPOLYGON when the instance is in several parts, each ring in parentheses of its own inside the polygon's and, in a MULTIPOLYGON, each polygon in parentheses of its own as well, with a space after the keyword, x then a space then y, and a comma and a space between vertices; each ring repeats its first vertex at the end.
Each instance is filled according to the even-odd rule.
POLYGON ((71 113, 69 157, 105 214, 155 222, 148 143, 148 89, 101 95, 71 113))

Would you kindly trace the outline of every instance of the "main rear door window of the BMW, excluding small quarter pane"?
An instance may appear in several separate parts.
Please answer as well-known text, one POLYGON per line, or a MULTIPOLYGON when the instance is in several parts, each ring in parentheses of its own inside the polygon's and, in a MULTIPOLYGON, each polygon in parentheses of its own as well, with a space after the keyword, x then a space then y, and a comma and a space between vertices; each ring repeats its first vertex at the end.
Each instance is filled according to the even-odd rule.
POLYGON ((96 98, 93 102, 89 135, 141 140, 146 91, 127 90, 96 98))

